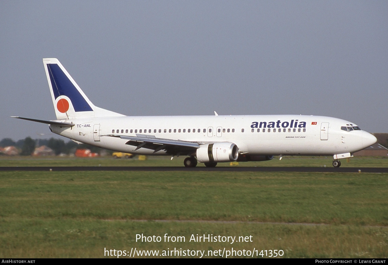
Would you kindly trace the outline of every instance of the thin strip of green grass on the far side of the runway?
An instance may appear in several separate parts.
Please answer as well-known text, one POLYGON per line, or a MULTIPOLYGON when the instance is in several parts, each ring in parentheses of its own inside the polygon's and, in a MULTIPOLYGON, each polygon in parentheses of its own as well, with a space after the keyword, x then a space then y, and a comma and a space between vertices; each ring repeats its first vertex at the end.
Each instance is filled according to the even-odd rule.
MULTIPOLYGON (((185 157, 147 157, 139 161, 132 159, 115 159, 111 157, 77 158, 77 157, 0 157, 0 167, 10 166, 169 166, 183 167, 185 157)), ((333 157, 275 157, 262 162, 239 162, 242 167, 333 167, 333 157)), ((388 167, 388 157, 352 157, 349 160, 341 159, 341 167, 388 167)), ((230 163, 218 163, 218 166, 229 166, 230 163)), ((203 167, 203 163, 198 163, 203 167)))

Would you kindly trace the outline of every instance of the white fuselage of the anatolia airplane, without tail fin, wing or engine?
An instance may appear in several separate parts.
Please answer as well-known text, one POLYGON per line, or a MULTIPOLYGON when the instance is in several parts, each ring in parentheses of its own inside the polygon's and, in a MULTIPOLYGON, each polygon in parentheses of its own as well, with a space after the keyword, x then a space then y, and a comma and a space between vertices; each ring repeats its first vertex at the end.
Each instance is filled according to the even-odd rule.
MULTIPOLYGON (((62 120, 63 121, 63 120, 62 120)), ((119 136, 155 136, 201 144, 231 142, 240 154, 334 155, 353 153, 376 142, 346 120, 308 115, 218 115, 218 116, 123 116, 68 119, 73 127, 50 125, 52 132, 81 143, 141 155, 166 155, 126 145, 119 136), (195 131, 195 132, 194 132, 195 131)))

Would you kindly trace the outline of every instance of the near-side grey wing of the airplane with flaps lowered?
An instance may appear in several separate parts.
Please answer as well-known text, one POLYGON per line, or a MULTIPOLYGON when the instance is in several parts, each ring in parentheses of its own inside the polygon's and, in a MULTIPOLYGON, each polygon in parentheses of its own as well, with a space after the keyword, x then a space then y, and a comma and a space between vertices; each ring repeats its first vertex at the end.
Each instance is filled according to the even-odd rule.
POLYGON ((185 155, 191 151, 199 148, 199 144, 195 142, 172 140, 164 138, 156 138, 152 135, 137 134, 136 136, 124 136, 124 135, 107 135, 111 137, 120 137, 121 139, 129 140, 126 145, 137 146, 135 150, 139 148, 147 148, 154 150, 154 153, 160 150, 166 150, 166 153, 176 155, 181 153, 185 155))

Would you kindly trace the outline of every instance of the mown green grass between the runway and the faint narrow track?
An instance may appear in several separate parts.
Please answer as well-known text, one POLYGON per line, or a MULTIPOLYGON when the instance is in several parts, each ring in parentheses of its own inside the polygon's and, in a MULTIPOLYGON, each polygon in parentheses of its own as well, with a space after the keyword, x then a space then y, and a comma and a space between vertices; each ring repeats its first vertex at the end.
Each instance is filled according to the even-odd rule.
POLYGON ((386 174, 2 172, 2 217, 388 225, 386 174))

